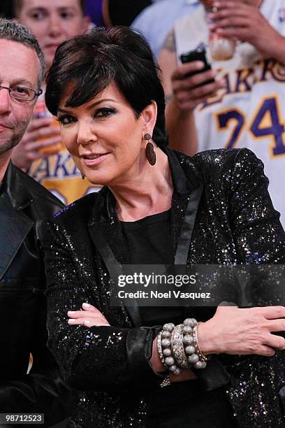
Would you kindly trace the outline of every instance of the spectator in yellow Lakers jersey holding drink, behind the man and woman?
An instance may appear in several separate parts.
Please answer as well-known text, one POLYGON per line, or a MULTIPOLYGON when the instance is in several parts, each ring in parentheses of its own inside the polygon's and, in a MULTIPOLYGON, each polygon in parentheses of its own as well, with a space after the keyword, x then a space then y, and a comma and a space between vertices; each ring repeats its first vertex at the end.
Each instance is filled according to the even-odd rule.
MULTIPOLYGON (((89 18, 82 0, 14 0, 15 16, 38 38, 50 69, 57 46, 66 38, 84 33, 89 18)), ((70 204, 96 187, 83 181, 71 156, 61 143, 59 126, 39 97, 34 119, 20 144, 13 150, 15 165, 70 204)))

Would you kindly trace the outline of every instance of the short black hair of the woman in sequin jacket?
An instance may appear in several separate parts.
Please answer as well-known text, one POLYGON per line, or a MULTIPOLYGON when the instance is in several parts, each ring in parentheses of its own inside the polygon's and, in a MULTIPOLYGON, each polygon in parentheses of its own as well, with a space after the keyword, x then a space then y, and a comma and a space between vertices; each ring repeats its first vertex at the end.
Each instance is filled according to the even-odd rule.
POLYGON ((165 97, 152 51, 140 34, 129 27, 96 28, 75 36, 57 48, 47 73, 45 103, 57 115, 66 88, 66 107, 91 101, 114 81, 138 117, 155 101, 158 114, 153 138, 165 145, 165 97))

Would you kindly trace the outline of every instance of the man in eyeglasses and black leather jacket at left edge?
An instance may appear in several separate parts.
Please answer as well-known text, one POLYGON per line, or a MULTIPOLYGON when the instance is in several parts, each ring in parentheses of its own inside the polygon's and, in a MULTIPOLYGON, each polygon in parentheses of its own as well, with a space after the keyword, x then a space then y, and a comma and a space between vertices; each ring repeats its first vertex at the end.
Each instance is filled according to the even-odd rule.
POLYGON ((36 38, 21 24, 0 20, 1 427, 15 413, 44 413, 42 426, 53 426, 65 418, 68 403, 67 388, 46 347, 45 273, 38 248, 39 222, 62 205, 10 162, 41 94, 44 73, 36 38))

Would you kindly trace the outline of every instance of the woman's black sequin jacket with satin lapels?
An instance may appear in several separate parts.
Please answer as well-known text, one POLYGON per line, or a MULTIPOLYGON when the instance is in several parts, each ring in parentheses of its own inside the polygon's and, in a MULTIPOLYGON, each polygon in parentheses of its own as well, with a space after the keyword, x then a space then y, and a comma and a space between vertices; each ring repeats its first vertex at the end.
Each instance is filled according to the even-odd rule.
MULTIPOLYGON (((174 185, 173 254, 189 197, 201 189, 193 198, 193 213, 198 211, 189 264, 284 264, 284 230, 268 194, 263 164, 252 152, 211 150, 194 157, 166 152, 174 185)), ((96 249, 98 225, 116 259, 127 262, 115 201, 106 187, 43 224, 48 345, 64 378, 79 390, 75 426, 144 427, 147 393, 156 389, 159 394, 161 383, 149 365, 158 328, 140 327, 136 314, 124 306, 110 307, 112 282, 96 249), (68 325, 67 311, 80 309, 83 302, 96 306, 112 327, 68 325)), ((198 320, 214 313, 209 308, 185 311, 198 320)), ((219 376, 231 376, 225 393, 240 427, 284 427, 279 397, 285 385, 283 362, 283 352, 272 358, 219 355, 212 362, 213 373, 220 372, 218 383, 219 376)))

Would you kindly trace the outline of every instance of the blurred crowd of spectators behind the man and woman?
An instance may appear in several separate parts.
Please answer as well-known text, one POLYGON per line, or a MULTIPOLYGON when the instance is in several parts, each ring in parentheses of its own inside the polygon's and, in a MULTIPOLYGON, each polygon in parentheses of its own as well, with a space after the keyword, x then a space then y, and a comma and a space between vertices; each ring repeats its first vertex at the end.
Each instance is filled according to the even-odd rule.
MULTIPOLYGON (((0 13, 34 32, 47 71, 57 45, 89 27, 141 31, 161 67, 170 147, 188 155, 215 148, 254 151, 285 224, 285 0, 4 0, 0 13), (190 51, 194 56, 182 64, 181 55, 190 51)), ((13 162, 64 204, 98 190, 81 179, 44 94, 13 162)))

